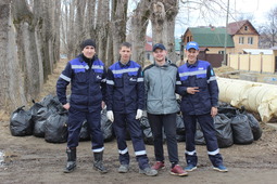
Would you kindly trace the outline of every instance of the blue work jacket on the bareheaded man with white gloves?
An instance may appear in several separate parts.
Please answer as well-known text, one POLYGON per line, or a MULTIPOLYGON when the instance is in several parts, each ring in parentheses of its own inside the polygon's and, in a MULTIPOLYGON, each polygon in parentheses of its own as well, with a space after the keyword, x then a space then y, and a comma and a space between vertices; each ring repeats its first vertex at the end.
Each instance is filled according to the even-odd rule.
POLYGON ((144 83, 141 66, 134 61, 116 62, 106 75, 106 110, 126 114, 143 109, 144 83))

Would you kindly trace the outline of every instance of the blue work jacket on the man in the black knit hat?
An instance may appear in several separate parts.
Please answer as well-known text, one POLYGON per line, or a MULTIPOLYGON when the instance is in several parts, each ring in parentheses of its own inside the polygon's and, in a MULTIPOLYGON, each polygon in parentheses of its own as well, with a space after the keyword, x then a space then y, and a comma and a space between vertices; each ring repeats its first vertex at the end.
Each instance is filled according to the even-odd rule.
POLYGON ((71 107, 81 111, 101 109, 105 101, 104 64, 93 56, 91 67, 79 55, 70 61, 56 82, 56 95, 62 104, 66 104, 66 87, 71 83, 71 107))

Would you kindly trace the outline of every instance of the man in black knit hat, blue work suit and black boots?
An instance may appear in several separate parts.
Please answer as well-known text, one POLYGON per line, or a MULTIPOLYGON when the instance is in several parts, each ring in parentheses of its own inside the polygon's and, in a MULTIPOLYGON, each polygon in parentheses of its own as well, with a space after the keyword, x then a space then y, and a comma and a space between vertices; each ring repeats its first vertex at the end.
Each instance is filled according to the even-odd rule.
POLYGON ((76 168, 76 147, 79 132, 86 119, 95 156, 93 168, 106 173, 103 166, 103 135, 101 132, 102 101, 105 97, 105 68, 96 55, 96 42, 91 39, 80 44, 81 54, 70 61, 56 82, 56 94, 68 110, 67 163, 64 172, 76 168), (66 101, 66 87, 71 83, 71 100, 66 101))

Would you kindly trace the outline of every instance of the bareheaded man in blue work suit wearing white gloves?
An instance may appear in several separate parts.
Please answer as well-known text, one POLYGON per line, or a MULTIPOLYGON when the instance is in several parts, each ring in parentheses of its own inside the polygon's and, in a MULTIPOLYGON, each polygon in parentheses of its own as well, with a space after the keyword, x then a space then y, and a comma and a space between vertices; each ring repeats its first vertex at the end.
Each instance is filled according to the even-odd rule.
POLYGON ((130 43, 122 43, 119 55, 119 61, 109 67, 106 76, 106 116, 113 122, 117 140, 121 162, 118 172, 126 173, 129 170, 129 153, 125 136, 128 128, 139 165, 139 173, 156 175, 158 172, 149 166, 139 122, 144 105, 141 67, 130 61, 130 43))

